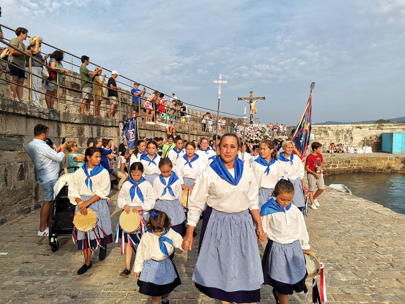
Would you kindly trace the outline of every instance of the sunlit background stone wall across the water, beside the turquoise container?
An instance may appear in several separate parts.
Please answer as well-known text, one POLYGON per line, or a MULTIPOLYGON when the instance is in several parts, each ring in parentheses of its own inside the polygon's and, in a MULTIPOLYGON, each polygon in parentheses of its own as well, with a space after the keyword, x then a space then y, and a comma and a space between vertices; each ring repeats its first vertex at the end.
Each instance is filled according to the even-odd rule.
MULTIPOLYGON (((291 134, 294 126, 287 128, 291 134)), ((314 141, 324 145, 327 152, 329 143, 344 143, 348 147, 371 146, 373 152, 381 152, 382 133, 405 132, 405 124, 321 124, 312 126, 314 141)))

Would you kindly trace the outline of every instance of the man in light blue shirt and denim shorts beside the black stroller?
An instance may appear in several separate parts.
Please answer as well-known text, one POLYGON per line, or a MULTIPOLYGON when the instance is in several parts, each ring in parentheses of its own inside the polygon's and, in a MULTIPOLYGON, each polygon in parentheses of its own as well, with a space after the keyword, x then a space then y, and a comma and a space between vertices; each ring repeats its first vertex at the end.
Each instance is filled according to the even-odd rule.
POLYGON ((40 212, 38 236, 48 236, 49 224, 53 207, 53 186, 59 178, 59 163, 65 158, 66 143, 56 152, 47 145, 45 139, 49 136, 49 128, 43 124, 34 127, 34 139, 28 144, 27 152, 36 169, 36 176, 44 191, 44 204, 40 212))

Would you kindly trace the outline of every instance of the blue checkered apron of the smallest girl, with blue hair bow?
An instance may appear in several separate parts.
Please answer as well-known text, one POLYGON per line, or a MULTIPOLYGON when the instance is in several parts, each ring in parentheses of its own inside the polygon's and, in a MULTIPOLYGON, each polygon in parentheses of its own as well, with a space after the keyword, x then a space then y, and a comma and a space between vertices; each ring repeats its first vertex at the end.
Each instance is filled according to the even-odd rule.
POLYGON ((156 285, 166 285, 172 283, 177 274, 172 260, 167 257, 163 261, 152 259, 143 262, 143 267, 139 280, 156 285))

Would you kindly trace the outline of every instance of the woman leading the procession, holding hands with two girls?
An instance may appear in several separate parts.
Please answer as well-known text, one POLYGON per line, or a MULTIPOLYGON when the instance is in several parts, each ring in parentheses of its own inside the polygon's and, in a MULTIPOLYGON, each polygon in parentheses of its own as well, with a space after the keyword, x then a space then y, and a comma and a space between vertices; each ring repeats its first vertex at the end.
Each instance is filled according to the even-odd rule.
POLYGON ((207 202, 192 280, 199 291, 221 303, 259 302, 263 283, 252 221, 253 216, 263 241, 258 184, 249 166, 236 157, 238 150, 237 136, 226 133, 220 141, 220 155, 194 186, 183 241, 183 248, 190 250, 192 233, 207 202))

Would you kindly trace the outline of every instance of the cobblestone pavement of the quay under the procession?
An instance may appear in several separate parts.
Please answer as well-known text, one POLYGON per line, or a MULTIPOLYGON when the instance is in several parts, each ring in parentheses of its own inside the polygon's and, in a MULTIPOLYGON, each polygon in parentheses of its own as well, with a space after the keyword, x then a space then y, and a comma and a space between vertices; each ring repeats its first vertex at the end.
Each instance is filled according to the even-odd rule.
MULTIPOLYGON (((120 212, 116 197, 114 191, 109 202, 113 226, 120 212)), ((320 203, 306 222, 310 244, 325 263, 328 302, 405 302, 405 215, 333 189, 324 192, 320 203)), ((150 303, 137 292, 133 274, 119 276, 124 257, 118 244, 108 247, 104 261, 98 261, 96 253, 93 267, 78 276, 83 257, 72 239, 60 237, 60 248, 53 253, 48 239, 36 236, 38 223, 37 210, 0 226, 0 252, 8 253, 0 255, 0 303, 150 303)), ((191 252, 176 249, 183 284, 172 293, 171 303, 219 303, 192 284, 196 244, 197 238, 191 252)), ((260 244, 261 252, 264 247, 260 244)), ((261 294, 261 303, 274 303, 269 287, 262 287, 261 294)), ((309 303, 303 293, 290 301, 309 303)))

